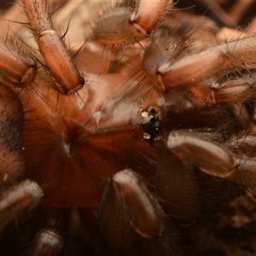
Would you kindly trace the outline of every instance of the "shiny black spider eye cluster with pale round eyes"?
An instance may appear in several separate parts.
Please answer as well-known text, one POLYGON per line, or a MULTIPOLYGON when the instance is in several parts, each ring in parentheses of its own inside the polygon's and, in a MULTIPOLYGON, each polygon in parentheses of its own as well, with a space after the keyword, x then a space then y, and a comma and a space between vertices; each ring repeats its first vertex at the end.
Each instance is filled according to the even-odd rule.
POLYGON ((150 144, 160 139, 160 118, 154 108, 148 107, 141 111, 143 117, 143 140, 150 144))

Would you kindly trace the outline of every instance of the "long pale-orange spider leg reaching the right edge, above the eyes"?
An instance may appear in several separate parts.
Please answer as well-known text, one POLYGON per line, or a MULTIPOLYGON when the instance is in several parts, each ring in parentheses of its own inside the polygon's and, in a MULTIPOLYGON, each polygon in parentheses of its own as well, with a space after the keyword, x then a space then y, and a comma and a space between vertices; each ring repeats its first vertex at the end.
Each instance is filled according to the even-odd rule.
POLYGON ((167 90, 181 85, 196 84, 228 69, 254 69, 254 52, 254 36, 208 47, 201 52, 185 55, 174 63, 170 60, 160 65, 159 83, 167 90), (186 76, 183 75, 184 70, 186 76))

